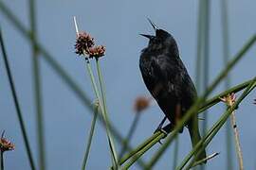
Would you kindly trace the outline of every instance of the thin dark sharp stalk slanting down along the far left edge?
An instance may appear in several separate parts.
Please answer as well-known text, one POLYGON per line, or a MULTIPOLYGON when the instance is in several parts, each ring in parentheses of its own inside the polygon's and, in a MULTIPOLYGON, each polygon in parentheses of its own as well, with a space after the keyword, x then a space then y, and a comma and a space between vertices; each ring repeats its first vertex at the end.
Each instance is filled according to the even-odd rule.
POLYGON ((12 97, 13 97, 16 113, 17 113, 17 116, 18 116, 19 124, 21 126, 21 130, 22 130, 23 140, 24 140, 24 143, 25 143, 26 151, 27 151, 27 157, 28 157, 28 160, 29 160, 30 168, 32 170, 34 170, 35 169, 35 164, 34 164, 34 161, 33 161, 33 158, 32 158, 32 153, 31 153, 30 144, 29 144, 28 138, 27 138, 27 131, 26 131, 24 120, 23 120, 22 111, 20 109, 20 105, 19 105, 17 94, 16 94, 13 78, 12 78, 10 68, 9 68, 9 60, 8 60, 8 56, 7 56, 7 53, 6 53, 6 48, 5 48, 5 44, 4 44, 4 41, 3 41, 3 37, 2 37, 1 27, 0 27, 0 43, 1 43, 1 50, 2 50, 2 53, 3 53, 3 58, 4 58, 8 78, 9 78, 9 86, 10 86, 10 90, 11 90, 11 94, 12 94, 12 97))

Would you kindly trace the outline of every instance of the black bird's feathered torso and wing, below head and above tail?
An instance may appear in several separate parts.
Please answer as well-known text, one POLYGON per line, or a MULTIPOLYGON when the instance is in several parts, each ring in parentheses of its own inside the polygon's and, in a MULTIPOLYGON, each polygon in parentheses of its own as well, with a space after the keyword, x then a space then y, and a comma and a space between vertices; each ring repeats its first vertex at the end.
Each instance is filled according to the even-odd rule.
POLYGON ((158 55, 141 70, 148 90, 171 122, 175 122, 177 108, 183 114, 196 95, 192 80, 180 59, 158 55), (143 69, 144 68, 144 69, 143 69))

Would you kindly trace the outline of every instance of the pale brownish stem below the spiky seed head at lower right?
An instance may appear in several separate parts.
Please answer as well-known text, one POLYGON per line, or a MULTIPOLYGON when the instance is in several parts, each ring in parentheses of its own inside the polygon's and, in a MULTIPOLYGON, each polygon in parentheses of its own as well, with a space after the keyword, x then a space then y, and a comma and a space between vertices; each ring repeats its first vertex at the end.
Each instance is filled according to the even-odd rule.
POLYGON ((244 169, 244 161, 243 161, 243 154, 242 154, 242 148, 239 140, 239 131, 236 125, 235 120, 235 111, 232 111, 231 115, 231 125, 233 127, 234 137, 235 137, 235 148, 236 148, 236 154, 239 162, 239 169, 244 169))

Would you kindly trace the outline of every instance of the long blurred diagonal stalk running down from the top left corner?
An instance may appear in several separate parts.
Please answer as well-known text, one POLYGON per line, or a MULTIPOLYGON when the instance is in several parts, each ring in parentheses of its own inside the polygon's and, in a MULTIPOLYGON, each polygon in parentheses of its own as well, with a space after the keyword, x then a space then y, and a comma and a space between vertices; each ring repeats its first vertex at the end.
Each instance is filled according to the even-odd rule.
MULTIPOLYGON (((37 40, 33 39, 30 36, 30 32, 26 29, 25 26, 22 25, 22 23, 13 15, 11 10, 7 8, 7 6, 0 1, 0 12, 2 12, 6 18, 9 20, 9 22, 17 28, 18 31, 20 31, 21 35, 23 35, 29 42, 34 43, 38 51, 42 54, 42 59, 45 59, 47 64, 53 69, 53 71, 62 78, 64 83, 67 85, 68 88, 72 90, 73 93, 76 94, 76 96, 82 101, 82 104, 87 107, 89 110, 92 110, 93 108, 91 107, 91 100, 87 97, 87 95, 82 91, 82 89, 79 87, 79 85, 74 81, 72 76, 69 76, 64 68, 57 62, 57 60, 54 59, 53 56, 46 50, 46 48, 40 44, 37 40)), ((99 120, 101 122, 101 125, 104 125, 103 118, 101 114, 99 115, 99 120)), ((119 133, 118 128, 114 127, 112 124, 109 125, 110 130, 112 131, 114 137, 117 139, 117 141, 120 144, 123 144, 123 137, 119 133)), ((132 150, 132 146, 128 144, 128 149, 129 151, 132 150)), ((145 163, 141 160, 137 161, 140 166, 144 166, 145 163)))

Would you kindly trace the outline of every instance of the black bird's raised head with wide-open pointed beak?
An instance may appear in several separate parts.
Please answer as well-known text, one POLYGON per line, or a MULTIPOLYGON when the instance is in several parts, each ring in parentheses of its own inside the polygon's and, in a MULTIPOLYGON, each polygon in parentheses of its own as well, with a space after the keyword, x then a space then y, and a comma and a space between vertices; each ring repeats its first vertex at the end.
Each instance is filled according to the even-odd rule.
POLYGON ((143 37, 149 39, 148 47, 151 50, 167 49, 170 47, 176 48, 176 42, 174 37, 166 30, 160 29, 148 18, 149 23, 155 30, 155 35, 140 34, 143 37))

